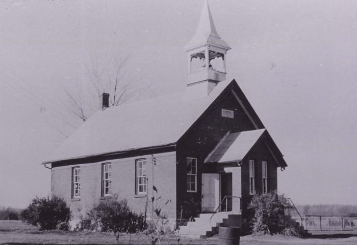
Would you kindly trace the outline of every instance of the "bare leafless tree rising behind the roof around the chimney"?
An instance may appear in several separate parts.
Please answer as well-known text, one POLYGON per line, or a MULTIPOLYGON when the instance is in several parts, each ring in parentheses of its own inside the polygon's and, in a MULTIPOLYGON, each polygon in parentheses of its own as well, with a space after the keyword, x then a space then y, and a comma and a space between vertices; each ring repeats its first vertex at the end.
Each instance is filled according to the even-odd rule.
POLYGON ((125 68, 129 55, 102 61, 99 57, 85 64, 88 79, 79 82, 71 90, 65 89, 69 98, 69 110, 82 121, 86 121, 98 107, 98 96, 110 94, 110 106, 118 106, 130 99, 138 90, 133 83, 125 81, 125 68))

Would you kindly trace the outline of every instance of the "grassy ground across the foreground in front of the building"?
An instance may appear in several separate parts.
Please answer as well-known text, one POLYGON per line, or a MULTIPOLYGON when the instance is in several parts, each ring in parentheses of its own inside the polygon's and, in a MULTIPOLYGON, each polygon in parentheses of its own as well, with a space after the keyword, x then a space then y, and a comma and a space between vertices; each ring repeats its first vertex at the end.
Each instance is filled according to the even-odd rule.
MULTIPOLYGON (((240 244, 357 244, 357 233, 326 234, 315 233, 308 238, 284 236, 243 236, 240 244)), ((150 244, 144 234, 122 234, 119 243, 111 233, 92 231, 38 231, 35 227, 19 221, 0 221, 0 244, 150 244)), ((179 244, 177 236, 169 234, 164 244, 179 244)), ((190 239, 181 237, 180 244, 219 244, 217 237, 207 239, 190 239)))

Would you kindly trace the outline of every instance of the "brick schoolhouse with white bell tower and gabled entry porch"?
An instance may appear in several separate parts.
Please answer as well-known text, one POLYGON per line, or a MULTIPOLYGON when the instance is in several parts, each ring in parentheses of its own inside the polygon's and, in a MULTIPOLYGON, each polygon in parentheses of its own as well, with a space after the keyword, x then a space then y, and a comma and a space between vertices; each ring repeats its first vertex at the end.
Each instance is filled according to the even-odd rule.
POLYGON ((97 112, 43 162, 72 225, 109 199, 144 213, 156 189, 172 222, 201 219, 183 233, 203 234, 227 214, 244 221, 252 195, 277 189, 287 164, 238 83, 226 80, 230 49, 206 3, 185 47, 186 90, 115 107, 100 96, 97 112))

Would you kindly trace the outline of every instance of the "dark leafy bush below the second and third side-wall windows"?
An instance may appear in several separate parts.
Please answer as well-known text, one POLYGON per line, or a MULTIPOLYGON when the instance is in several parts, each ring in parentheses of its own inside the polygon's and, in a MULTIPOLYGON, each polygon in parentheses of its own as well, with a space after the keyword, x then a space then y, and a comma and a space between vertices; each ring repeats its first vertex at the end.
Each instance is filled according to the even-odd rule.
POLYGON ((135 233, 146 229, 145 217, 132 212, 125 199, 100 202, 88 212, 88 217, 96 226, 101 225, 102 231, 135 233))

